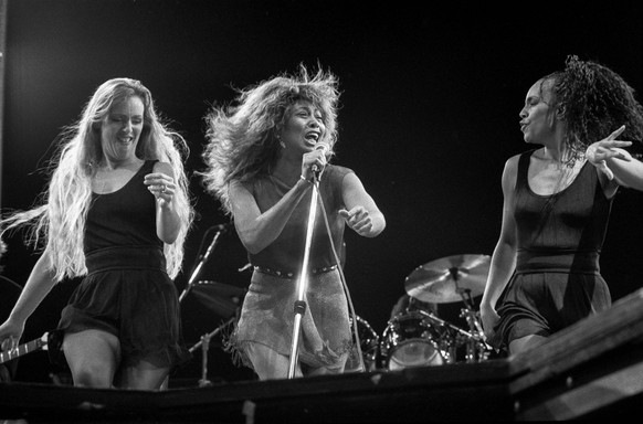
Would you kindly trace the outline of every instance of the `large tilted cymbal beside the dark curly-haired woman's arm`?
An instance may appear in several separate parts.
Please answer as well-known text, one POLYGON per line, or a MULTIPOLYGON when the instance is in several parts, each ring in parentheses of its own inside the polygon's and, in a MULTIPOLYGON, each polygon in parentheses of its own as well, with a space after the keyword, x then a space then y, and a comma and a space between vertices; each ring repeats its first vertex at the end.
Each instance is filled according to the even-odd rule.
POLYGON ((487 282, 491 256, 453 255, 420 265, 404 282, 411 297, 434 304, 462 301, 461 294, 482 295, 487 282))

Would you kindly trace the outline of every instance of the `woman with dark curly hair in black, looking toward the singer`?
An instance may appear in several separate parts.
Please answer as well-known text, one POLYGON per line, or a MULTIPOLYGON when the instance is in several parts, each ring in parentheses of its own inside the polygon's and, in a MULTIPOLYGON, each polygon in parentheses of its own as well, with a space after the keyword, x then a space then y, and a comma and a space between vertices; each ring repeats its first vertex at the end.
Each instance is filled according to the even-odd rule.
POLYGON ((599 257, 619 187, 643 190, 643 108, 621 76, 569 56, 520 110, 526 142, 507 160, 503 222, 481 301, 489 343, 509 354, 611 306, 599 257))

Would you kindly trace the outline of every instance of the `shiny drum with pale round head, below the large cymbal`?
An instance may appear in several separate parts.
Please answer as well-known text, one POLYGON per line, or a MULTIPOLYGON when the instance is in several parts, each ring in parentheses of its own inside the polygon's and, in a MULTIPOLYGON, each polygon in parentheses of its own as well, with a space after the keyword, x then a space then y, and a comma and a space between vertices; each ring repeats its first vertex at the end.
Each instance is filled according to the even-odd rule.
POLYGON ((420 311, 400 314, 389 321, 380 354, 382 368, 394 371, 412 367, 442 365, 445 352, 441 350, 442 329, 420 311))

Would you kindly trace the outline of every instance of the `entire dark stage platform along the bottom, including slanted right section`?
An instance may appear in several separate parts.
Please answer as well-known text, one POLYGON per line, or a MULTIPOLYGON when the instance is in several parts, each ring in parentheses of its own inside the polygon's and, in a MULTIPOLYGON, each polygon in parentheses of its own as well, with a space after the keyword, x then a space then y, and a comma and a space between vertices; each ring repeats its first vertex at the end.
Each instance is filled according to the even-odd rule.
POLYGON ((619 420, 643 404, 643 289, 504 359, 159 392, 0 384, 0 422, 619 420))

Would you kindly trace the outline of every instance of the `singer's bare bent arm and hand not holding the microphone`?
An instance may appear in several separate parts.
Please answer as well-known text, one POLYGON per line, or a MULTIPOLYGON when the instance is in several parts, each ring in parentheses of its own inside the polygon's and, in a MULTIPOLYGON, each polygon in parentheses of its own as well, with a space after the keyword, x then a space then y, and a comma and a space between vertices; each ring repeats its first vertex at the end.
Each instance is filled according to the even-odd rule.
POLYGON ((341 210, 339 214, 348 226, 365 237, 379 235, 387 226, 387 221, 355 173, 346 174, 341 192, 348 210, 341 210))

